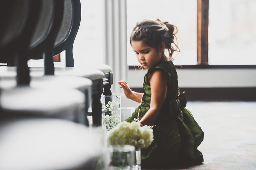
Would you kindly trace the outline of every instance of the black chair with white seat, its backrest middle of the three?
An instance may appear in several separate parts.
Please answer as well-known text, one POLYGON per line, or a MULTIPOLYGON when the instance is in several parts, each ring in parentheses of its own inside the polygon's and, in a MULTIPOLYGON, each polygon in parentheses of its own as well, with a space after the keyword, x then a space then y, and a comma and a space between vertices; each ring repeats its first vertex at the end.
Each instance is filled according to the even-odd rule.
MULTIPOLYGON (((56 1, 58 2, 58 1, 56 1)), ((62 5, 63 6, 63 5, 62 5)), ((79 77, 54 77, 54 65, 52 60, 52 47, 56 37, 56 30, 59 29, 63 15, 61 12, 57 13, 53 17, 54 13, 53 1, 42 1, 41 11, 39 12, 39 19, 36 24, 35 32, 33 33, 32 40, 29 45, 28 59, 33 57, 44 56, 44 75, 32 76, 31 87, 34 88, 75 88, 82 91, 85 94, 85 115, 87 115, 88 107, 91 101, 91 86, 92 82, 86 78, 79 77), (70 83, 72 82, 72 83, 70 83)), ((61 9, 63 10, 63 8, 61 9)), ((63 13, 63 12, 62 12, 63 13)), ((10 67, 7 69, 11 70, 10 67)), ((15 70, 16 68, 13 68, 15 70)), ((10 75, 10 71, 2 73, 2 80, 0 81, 0 87, 10 88, 16 85, 16 82, 12 79, 15 74, 10 75)), ((85 124, 88 125, 87 117, 85 117, 85 124)))

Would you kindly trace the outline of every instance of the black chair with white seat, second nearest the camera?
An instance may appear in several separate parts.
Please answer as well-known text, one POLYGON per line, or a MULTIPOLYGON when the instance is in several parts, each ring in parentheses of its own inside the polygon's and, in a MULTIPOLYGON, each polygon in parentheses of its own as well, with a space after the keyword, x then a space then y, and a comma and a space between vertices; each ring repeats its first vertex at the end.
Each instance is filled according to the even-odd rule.
MULTIPOLYGON (((55 0, 52 2, 54 17, 57 15, 62 17, 63 1, 55 0), (55 5, 57 1, 58 5, 55 5)), ((1 89, 0 117, 2 119, 6 117, 53 117, 84 123, 85 114, 84 111, 81 112, 85 102, 83 93, 74 89, 65 89, 64 93, 62 89, 38 90, 29 86, 28 51, 33 33, 35 33, 34 30, 36 29, 42 4, 43 1, 41 0, 22 1, 22 3, 20 1, 1 2, 1 7, 8 6, 8 9, 13 11, 14 15, 10 12, 5 14, 6 19, 1 18, 3 26, 1 34, 10 36, 5 36, 8 38, 1 36, 0 38, 0 61, 14 61, 14 63, 17 63, 17 86, 1 89), (17 15, 17 9, 21 9, 22 12, 20 13, 24 15, 13 17, 17 15)), ((58 28, 59 26, 58 23, 52 24, 52 27, 58 28)), ((54 34, 52 34, 51 38, 53 44, 55 41, 54 34)), ((45 51, 45 54, 47 53, 52 52, 50 50, 45 51)))

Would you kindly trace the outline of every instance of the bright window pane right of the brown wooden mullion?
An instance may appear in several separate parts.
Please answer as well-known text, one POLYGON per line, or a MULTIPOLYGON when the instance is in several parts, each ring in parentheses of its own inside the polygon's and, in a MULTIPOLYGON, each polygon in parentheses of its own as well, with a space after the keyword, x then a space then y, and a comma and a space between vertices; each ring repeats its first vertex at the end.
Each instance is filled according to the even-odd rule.
POLYGON ((256 64, 256 1, 209 0, 210 65, 256 64))

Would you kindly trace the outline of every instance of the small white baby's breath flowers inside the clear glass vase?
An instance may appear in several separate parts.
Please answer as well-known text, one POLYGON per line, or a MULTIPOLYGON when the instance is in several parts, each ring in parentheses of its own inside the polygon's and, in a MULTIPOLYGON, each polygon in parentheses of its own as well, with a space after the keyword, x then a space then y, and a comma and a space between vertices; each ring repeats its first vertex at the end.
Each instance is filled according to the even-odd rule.
POLYGON ((103 126, 106 126, 107 130, 114 128, 120 122, 120 107, 116 101, 108 101, 108 103, 102 104, 102 108, 107 110, 106 115, 102 115, 103 126))

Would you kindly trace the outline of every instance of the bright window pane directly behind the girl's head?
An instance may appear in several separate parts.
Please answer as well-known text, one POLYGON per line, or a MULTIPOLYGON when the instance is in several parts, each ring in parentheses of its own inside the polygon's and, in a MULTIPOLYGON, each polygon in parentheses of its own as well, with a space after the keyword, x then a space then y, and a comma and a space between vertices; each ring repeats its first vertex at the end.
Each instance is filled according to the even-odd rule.
POLYGON ((197 0, 127 0, 127 63, 138 65, 129 37, 136 22, 143 19, 169 21, 177 26, 180 53, 175 64, 195 65, 197 54, 197 0))

